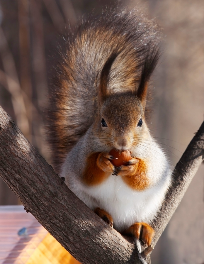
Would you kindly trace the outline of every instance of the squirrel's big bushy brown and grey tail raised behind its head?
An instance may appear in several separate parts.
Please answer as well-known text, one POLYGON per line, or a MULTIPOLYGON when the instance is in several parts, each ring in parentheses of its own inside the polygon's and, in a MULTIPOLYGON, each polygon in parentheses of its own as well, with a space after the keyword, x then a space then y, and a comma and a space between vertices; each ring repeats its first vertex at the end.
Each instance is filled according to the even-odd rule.
POLYGON ((48 140, 57 173, 66 154, 96 118, 99 76, 110 54, 119 53, 110 70, 108 89, 133 90, 140 82, 145 57, 159 38, 157 26, 135 10, 90 16, 66 40, 47 110, 48 140))

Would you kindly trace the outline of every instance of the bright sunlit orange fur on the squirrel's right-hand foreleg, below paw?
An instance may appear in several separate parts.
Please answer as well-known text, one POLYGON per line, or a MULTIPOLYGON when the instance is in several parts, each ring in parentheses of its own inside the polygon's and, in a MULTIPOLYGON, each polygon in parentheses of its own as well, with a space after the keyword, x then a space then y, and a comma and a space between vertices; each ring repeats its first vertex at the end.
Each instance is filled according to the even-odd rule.
POLYGON ((145 162, 138 158, 137 160, 139 160, 139 162, 134 165, 134 171, 129 175, 122 176, 122 179, 131 189, 142 191, 149 187, 150 181, 146 175, 147 167, 145 162))

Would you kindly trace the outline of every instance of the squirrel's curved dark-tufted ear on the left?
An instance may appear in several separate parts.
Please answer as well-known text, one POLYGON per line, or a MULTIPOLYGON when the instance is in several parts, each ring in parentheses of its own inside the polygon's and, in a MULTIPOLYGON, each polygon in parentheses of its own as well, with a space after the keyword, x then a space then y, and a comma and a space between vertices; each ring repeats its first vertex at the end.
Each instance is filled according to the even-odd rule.
POLYGON ((103 104, 105 99, 108 97, 108 78, 110 74, 111 66, 113 65, 113 62, 115 58, 118 56, 118 53, 114 52, 110 55, 108 60, 103 66, 103 69, 101 70, 101 76, 100 76, 100 83, 99 83, 99 89, 98 89, 98 98, 99 98, 99 104, 103 104))

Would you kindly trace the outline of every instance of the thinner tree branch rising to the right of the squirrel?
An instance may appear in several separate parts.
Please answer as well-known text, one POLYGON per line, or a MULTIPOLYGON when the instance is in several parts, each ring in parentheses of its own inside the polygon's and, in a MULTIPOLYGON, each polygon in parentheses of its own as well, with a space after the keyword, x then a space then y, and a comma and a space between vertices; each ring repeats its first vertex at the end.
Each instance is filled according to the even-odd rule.
POLYGON ((181 202, 191 180, 204 159, 204 121, 195 134, 173 172, 172 185, 166 199, 154 221, 155 236, 152 243, 155 245, 169 223, 171 216, 181 202))

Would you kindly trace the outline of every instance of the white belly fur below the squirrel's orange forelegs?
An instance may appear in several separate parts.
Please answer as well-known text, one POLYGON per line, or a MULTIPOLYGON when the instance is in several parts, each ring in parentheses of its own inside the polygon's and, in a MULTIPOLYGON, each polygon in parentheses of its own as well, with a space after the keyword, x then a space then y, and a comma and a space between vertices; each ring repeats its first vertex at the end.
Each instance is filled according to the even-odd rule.
POLYGON ((72 191, 92 210, 106 210, 113 218, 113 227, 121 232, 135 222, 148 223, 154 218, 164 199, 166 184, 158 182, 144 191, 135 191, 120 176, 110 175, 98 186, 72 191))

